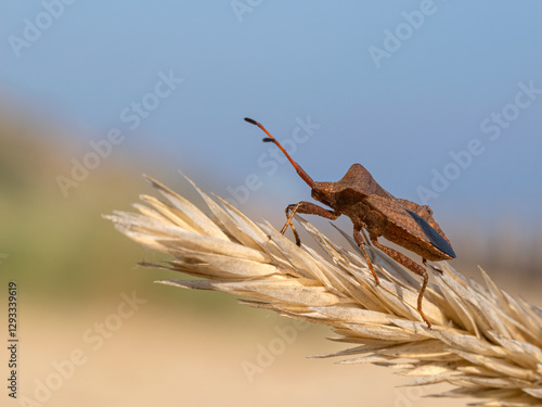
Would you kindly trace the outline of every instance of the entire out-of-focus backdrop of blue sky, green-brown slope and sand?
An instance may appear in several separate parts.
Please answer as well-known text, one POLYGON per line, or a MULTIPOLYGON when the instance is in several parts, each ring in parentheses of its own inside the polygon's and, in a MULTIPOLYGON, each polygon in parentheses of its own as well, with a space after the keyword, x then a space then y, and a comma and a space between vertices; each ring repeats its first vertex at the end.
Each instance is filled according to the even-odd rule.
POLYGON ((315 180, 361 163, 429 204, 453 266, 541 304, 542 3, 10 0, 0 15, 0 280, 18 284, 20 397, 433 403, 437 389, 393 389, 409 380, 386 369, 306 359, 345 347, 325 328, 294 328, 262 360, 291 320, 153 284, 179 276, 137 266, 160 256, 102 219, 152 193, 143 173, 195 196, 181 169, 281 227, 310 191, 245 116, 315 180))

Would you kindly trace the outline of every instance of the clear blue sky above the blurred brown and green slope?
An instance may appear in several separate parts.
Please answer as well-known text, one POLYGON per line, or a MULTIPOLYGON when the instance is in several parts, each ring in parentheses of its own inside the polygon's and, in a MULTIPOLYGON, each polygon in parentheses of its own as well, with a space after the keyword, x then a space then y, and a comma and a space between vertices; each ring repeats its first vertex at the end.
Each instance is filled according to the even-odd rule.
POLYGON ((317 180, 361 163, 439 218, 542 218, 540 1, 10 0, 0 14, 0 97, 69 123, 81 157, 118 128, 106 160, 149 152, 223 196, 248 182, 241 206, 307 199, 249 116, 317 180))

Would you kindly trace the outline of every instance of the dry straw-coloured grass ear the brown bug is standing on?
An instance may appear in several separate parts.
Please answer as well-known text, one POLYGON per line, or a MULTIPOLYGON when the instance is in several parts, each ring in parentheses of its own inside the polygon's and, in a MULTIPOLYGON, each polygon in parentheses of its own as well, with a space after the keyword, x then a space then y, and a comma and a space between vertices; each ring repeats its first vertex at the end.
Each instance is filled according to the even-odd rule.
POLYGON ((217 196, 218 204, 190 179, 210 217, 147 179, 167 203, 141 195, 146 205, 134 204, 140 214, 106 217, 130 239, 172 256, 166 266, 153 266, 203 278, 157 282, 223 291, 251 307, 327 325, 338 334, 333 340, 356 346, 318 357, 391 367, 417 378, 409 385, 454 386, 435 396, 479 397, 480 406, 542 405, 542 310, 500 290, 483 270, 485 287, 440 264, 444 272, 434 274, 424 298, 428 329, 416 310, 420 281, 378 250, 367 245, 380 278, 376 287, 347 233, 350 250, 297 217, 327 253, 324 258, 217 196))

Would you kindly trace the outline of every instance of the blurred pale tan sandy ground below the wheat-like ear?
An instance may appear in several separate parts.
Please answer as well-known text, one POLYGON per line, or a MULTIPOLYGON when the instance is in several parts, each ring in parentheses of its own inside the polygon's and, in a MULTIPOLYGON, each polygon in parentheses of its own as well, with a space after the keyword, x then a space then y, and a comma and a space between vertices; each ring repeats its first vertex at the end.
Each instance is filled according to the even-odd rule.
POLYGON ((122 301, 64 310, 26 304, 18 399, 4 390, 1 405, 409 407, 434 406, 424 396, 447 389, 398 387, 410 379, 390 369, 307 358, 348 346, 326 341, 333 333, 323 327, 251 309, 222 320, 191 309, 164 315, 122 301))

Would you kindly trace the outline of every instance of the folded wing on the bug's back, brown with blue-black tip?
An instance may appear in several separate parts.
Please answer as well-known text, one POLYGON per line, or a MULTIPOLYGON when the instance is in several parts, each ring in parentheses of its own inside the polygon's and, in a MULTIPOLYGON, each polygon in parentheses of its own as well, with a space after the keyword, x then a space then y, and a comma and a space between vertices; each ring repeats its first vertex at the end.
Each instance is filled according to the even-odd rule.
POLYGON ((393 200, 379 195, 365 196, 363 202, 382 213, 387 219, 405 230, 409 234, 430 243, 452 258, 455 257, 451 244, 416 213, 404 208, 393 200))

